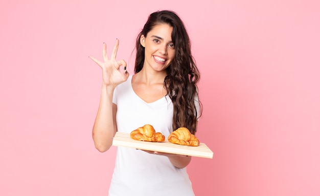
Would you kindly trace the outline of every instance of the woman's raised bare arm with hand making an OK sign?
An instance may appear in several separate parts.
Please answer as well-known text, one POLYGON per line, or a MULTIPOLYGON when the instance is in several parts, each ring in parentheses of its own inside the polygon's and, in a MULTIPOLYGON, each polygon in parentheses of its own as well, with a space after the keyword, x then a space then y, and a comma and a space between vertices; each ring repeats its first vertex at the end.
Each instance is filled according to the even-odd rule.
POLYGON ((129 73, 124 60, 116 61, 119 40, 116 40, 110 59, 107 57, 106 44, 103 43, 103 62, 89 56, 102 68, 102 89, 98 113, 92 130, 96 148, 104 152, 112 145, 112 138, 117 132, 116 114, 117 105, 112 103, 113 92, 116 86, 126 81, 129 73), (120 67, 124 70, 120 71, 120 67))

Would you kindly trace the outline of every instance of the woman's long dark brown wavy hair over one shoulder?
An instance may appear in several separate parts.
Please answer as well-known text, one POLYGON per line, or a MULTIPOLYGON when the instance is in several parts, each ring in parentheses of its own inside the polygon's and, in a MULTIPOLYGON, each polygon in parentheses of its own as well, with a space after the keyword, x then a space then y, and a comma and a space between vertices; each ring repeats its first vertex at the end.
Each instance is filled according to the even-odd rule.
POLYGON ((195 106, 200 73, 191 54, 191 43, 185 25, 175 12, 163 10, 149 15, 144 28, 136 38, 134 73, 142 70, 145 60, 145 48, 140 43, 140 37, 142 35, 146 37, 147 33, 159 24, 168 24, 173 28, 171 38, 175 47, 175 56, 167 68, 164 81, 164 88, 173 103, 172 128, 175 130, 179 127, 187 127, 192 134, 195 134, 197 117, 202 113, 200 101, 199 111, 195 106))

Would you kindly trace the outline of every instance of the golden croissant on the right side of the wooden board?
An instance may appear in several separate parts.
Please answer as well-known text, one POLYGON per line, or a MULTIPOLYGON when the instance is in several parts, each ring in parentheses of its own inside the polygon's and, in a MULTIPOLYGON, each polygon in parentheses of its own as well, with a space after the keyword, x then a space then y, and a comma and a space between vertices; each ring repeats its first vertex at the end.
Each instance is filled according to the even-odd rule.
POLYGON ((168 137, 168 141, 186 146, 198 146, 200 144, 199 140, 186 127, 180 127, 172 132, 168 137))

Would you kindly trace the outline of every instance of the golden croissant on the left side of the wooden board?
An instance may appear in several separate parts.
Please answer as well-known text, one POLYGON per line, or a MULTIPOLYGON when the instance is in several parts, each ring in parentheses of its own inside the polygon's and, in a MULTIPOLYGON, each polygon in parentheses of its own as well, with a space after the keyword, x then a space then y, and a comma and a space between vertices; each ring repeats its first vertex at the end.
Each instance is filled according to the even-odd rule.
POLYGON ((163 142, 165 141, 165 136, 162 133, 155 132, 154 128, 150 124, 146 124, 130 133, 130 138, 140 141, 148 142, 163 142))

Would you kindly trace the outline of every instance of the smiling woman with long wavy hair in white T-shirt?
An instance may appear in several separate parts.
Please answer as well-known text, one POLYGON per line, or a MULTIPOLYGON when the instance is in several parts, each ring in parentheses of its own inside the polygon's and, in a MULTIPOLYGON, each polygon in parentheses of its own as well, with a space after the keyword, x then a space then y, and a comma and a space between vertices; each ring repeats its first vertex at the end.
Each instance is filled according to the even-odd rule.
MULTIPOLYGON (((110 58, 103 44, 103 83, 93 127, 96 148, 112 145, 116 132, 130 133, 145 124, 167 138, 178 127, 196 133, 201 114, 199 72, 181 19, 172 11, 157 11, 136 39, 135 74, 116 60, 119 40, 110 58)), ((118 147, 109 195, 194 195, 186 172, 190 156, 118 147)))

